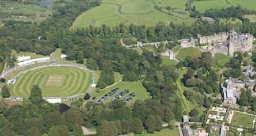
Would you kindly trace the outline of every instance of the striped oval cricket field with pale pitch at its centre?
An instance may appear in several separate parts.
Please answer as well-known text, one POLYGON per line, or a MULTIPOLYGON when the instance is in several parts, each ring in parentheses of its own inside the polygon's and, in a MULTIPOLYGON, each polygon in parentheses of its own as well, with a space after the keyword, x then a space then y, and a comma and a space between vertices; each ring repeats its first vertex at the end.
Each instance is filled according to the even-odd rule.
POLYGON ((92 74, 71 66, 52 66, 20 75, 11 87, 11 96, 28 97, 33 85, 38 85, 43 97, 67 97, 86 92, 92 74))

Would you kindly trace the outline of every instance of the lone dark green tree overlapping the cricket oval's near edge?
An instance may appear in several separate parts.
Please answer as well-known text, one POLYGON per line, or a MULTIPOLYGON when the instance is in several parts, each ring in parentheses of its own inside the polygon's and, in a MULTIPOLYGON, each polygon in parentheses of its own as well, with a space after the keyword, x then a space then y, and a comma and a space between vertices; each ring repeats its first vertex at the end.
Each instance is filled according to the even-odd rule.
POLYGON ((44 102, 44 99, 42 98, 41 89, 37 85, 34 85, 33 88, 31 89, 29 99, 32 103, 35 103, 35 104, 44 102))

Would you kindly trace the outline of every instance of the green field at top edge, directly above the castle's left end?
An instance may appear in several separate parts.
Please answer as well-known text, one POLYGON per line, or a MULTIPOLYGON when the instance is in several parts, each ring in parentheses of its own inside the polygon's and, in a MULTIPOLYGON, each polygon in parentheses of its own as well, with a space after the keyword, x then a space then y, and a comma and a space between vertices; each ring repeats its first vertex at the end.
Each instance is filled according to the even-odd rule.
POLYGON ((226 9, 227 7, 231 6, 226 3, 225 0, 193 1, 192 5, 195 6, 196 10, 200 12, 206 11, 208 9, 226 9))

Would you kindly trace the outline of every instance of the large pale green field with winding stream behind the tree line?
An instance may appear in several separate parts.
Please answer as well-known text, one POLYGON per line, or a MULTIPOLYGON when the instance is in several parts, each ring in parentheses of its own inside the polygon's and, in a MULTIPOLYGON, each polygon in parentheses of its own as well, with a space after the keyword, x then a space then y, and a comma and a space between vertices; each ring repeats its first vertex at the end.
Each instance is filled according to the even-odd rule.
POLYGON ((196 19, 189 17, 189 12, 185 11, 185 4, 186 0, 103 0, 100 6, 78 16, 73 22, 71 29, 88 27, 90 25, 102 26, 103 24, 116 26, 120 23, 124 25, 153 26, 159 21, 165 24, 169 24, 170 22, 182 24, 184 22, 187 25, 191 25, 196 19), (173 15, 168 15, 154 9, 155 5, 163 8, 166 5, 171 5, 172 10, 163 10, 173 15))

